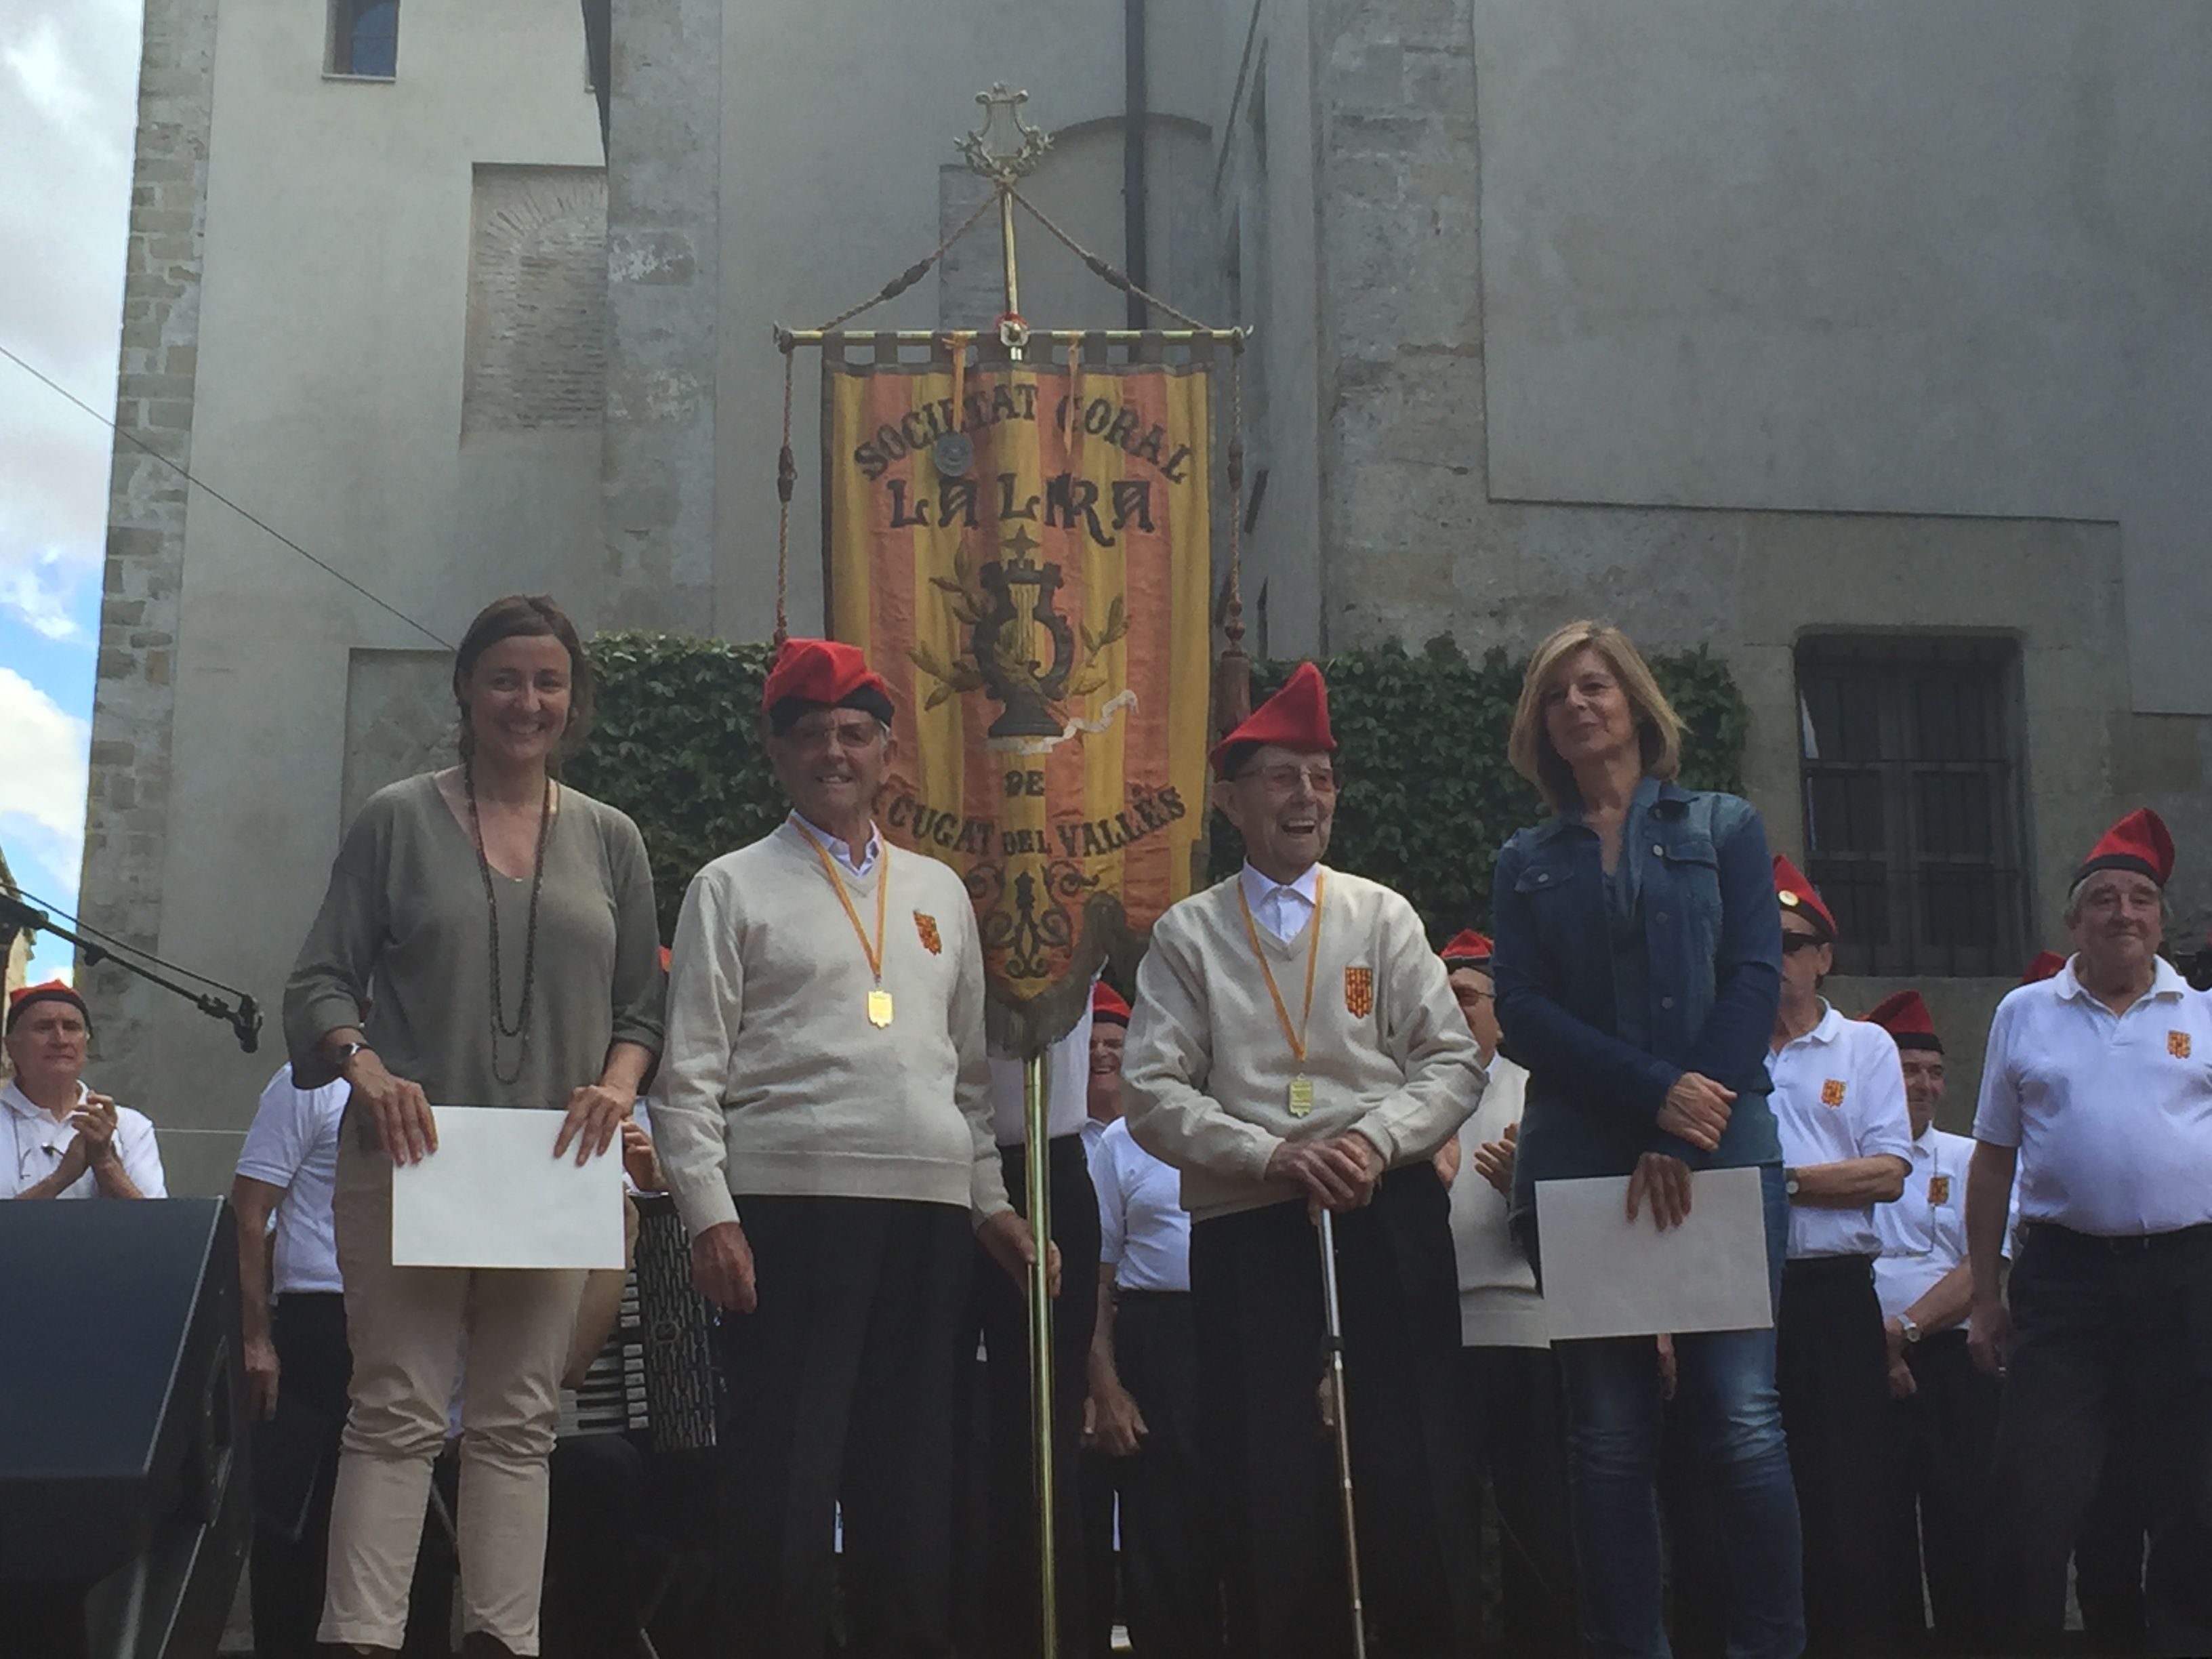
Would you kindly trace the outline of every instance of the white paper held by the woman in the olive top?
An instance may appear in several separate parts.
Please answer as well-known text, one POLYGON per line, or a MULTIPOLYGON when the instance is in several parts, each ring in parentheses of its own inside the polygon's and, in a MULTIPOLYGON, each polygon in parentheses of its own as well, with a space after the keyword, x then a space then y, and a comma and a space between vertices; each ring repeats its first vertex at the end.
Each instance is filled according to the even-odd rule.
POLYGON ((392 1170, 394 1267, 622 1267, 622 1141, 553 1157, 560 1113, 434 1106, 438 1150, 392 1170))

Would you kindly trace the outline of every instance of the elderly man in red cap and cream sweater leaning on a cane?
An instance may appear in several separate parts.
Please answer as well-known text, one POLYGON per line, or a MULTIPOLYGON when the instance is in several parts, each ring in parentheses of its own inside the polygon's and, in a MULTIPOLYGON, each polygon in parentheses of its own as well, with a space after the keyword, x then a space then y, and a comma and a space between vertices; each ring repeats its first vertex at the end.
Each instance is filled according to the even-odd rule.
POLYGON ((1349 1650, 1316 1418, 1310 1212, 1327 1210, 1367 1606, 1394 1655, 1458 1655, 1475 1628, 1475 1540, 1451 1221, 1429 1159, 1482 1097, 1482 1062, 1413 907, 1321 863, 1336 814, 1321 670, 1303 664, 1210 759, 1245 865, 1152 927, 1121 1095, 1137 1146, 1181 1170, 1192 1214, 1230 1650, 1349 1650))

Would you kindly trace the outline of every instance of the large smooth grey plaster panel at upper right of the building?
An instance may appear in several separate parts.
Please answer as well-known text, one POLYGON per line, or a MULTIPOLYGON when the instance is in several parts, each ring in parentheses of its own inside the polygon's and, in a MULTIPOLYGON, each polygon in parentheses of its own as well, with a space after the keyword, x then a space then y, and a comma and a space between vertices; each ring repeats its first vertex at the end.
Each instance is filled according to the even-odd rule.
POLYGON ((2212 712, 2212 7, 1475 0, 1498 498, 2095 518, 2212 712))

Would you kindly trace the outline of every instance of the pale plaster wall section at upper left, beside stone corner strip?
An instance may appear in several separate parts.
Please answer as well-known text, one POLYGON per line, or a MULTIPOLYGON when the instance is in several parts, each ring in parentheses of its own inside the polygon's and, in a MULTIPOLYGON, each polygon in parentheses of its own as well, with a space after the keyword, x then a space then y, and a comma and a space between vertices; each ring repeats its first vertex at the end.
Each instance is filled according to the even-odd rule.
MULTIPOLYGON (((192 467, 456 639, 513 588, 591 622, 599 434, 460 438, 471 168, 599 166, 573 0, 407 0, 392 84, 325 80, 323 7, 223 0, 192 467)), ((192 498, 161 953, 252 991, 261 1053, 161 1000, 142 1102, 170 1188, 228 1186, 283 1062, 283 980, 336 852, 347 653, 429 641, 192 498)))

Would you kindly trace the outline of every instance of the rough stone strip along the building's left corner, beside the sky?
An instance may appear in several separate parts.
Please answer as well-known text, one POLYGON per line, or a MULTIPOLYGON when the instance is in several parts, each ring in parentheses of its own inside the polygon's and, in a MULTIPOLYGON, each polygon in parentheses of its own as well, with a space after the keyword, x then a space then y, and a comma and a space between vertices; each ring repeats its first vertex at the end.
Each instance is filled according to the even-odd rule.
MULTIPOLYGON (((153 949, 161 933, 177 615, 190 507, 184 478, 164 462, 188 467, 192 458, 215 4, 146 0, 131 175, 82 918, 142 949, 153 949)), ((100 1031, 102 1082, 128 1097, 139 1077, 146 1004, 166 993, 115 967, 93 969, 80 984, 100 1031)))

